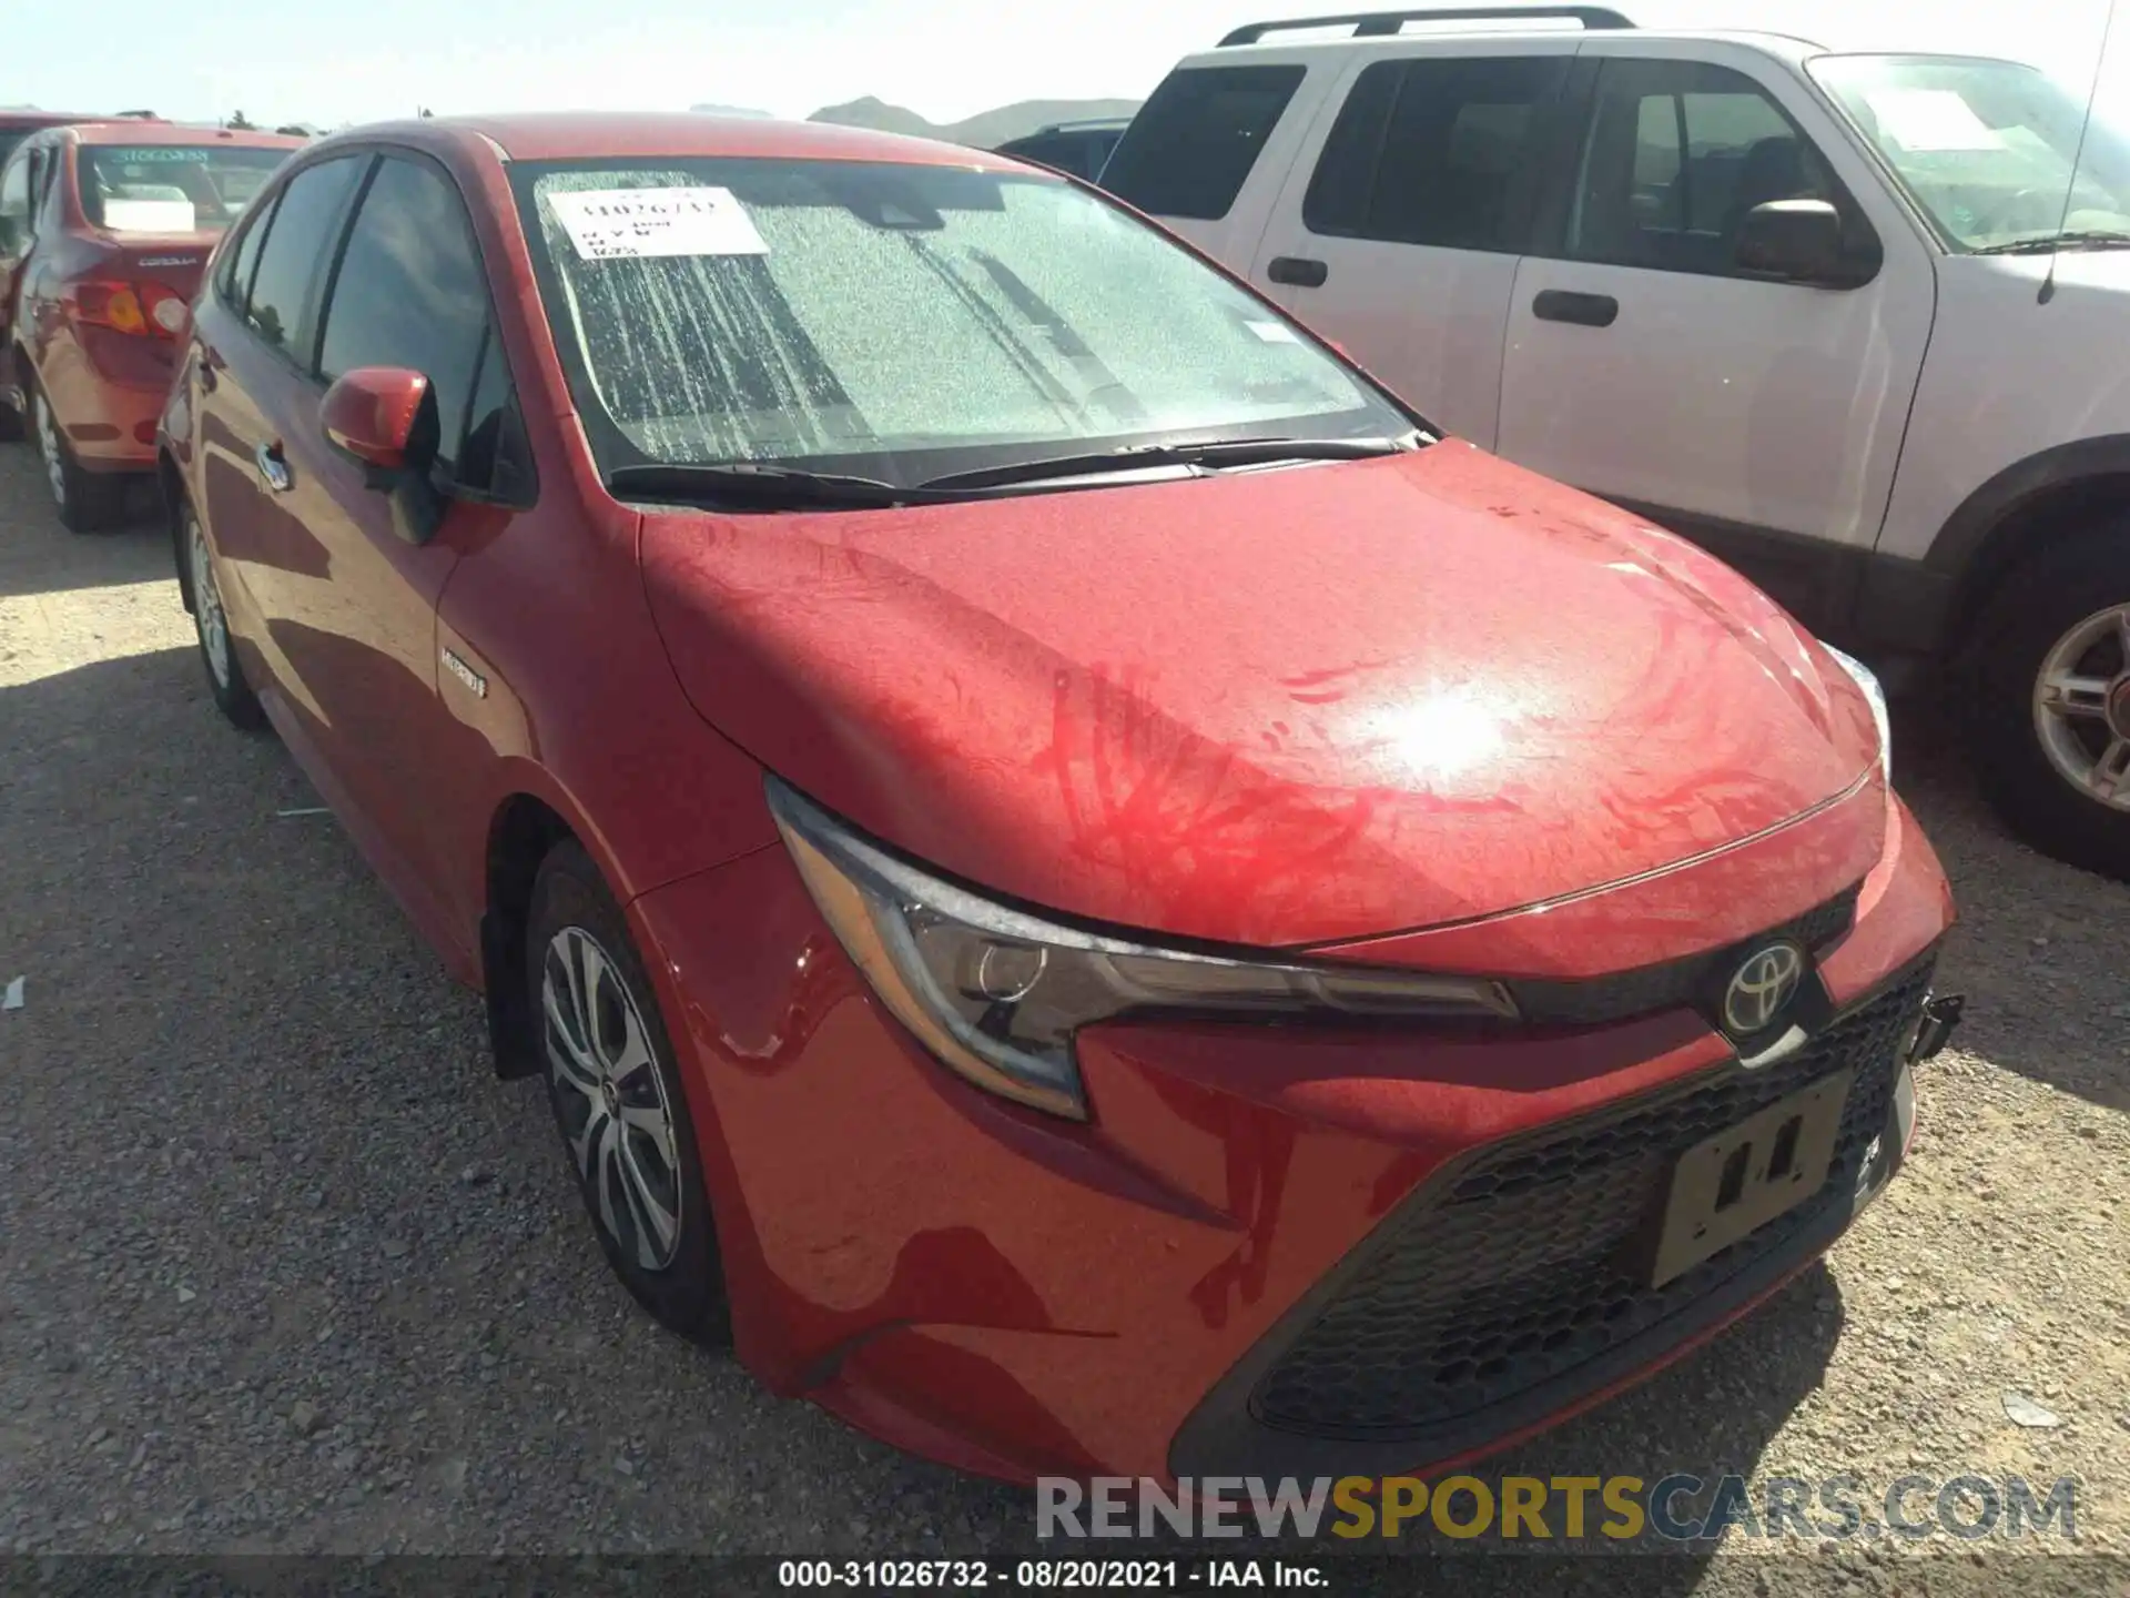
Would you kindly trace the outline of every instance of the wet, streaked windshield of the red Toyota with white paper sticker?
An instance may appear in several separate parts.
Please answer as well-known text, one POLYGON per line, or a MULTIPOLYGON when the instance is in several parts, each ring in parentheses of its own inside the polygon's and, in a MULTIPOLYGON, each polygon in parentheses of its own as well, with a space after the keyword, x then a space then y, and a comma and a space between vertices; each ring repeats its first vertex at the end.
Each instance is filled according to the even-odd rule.
POLYGON ((513 183, 605 473, 775 460, 920 484, 1067 447, 1414 426, 1054 177, 750 158, 513 183))

